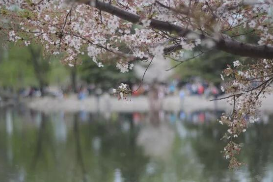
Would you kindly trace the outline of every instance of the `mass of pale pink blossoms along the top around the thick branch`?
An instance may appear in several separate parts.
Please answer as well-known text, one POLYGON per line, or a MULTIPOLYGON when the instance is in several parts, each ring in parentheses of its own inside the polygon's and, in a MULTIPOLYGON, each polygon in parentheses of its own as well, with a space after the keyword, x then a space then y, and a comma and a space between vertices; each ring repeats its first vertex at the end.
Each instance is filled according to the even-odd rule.
MULTIPOLYGON (((172 22, 187 29, 199 30, 200 33, 211 32, 212 37, 231 29, 236 33, 236 28, 243 25, 246 29, 254 29, 260 36, 258 44, 273 45, 270 30, 273 23, 272 2, 269 0, 223 0, 221 3, 218 0, 199 0, 190 3, 190 7, 189 2, 185 0, 106 2, 138 14, 141 26, 133 28, 132 23, 98 10, 92 7, 92 3, 91 6, 77 1, 71 4, 64 0, 0 1, 0 12, 4 17, 0 24, 9 32, 10 41, 18 41, 22 37, 27 46, 30 42, 25 39, 35 39, 45 45, 45 52, 49 55, 64 52, 64 63, 73 61, 82 52, 88 52, 96 63, 99 56, 105 52, 111 52, 118 55, 119 59, 129 61, 132 56, 142 59, 162 54, 160 50, 150 50, 170 43, 181 45, 188 51, 208 43, 208 40, 201 41, 200 37, 194 34, 177 37, 172 33, 152 29, 151 19, 172 22), (4 25, 7 21, 10 21, 9 26, 4 25), (132 56, 119 50, 120 42, 130 48, 132 56)), ((174 58, 180 54, 176 51, 169 53, 172 53, 174 58)))

